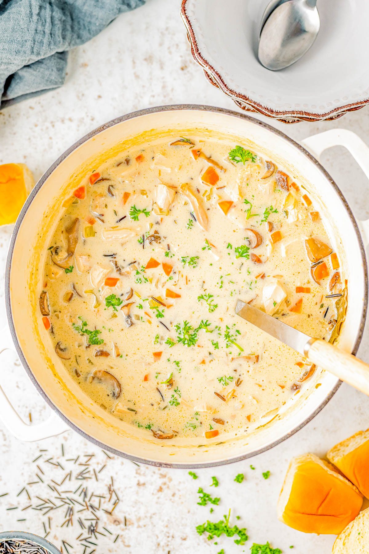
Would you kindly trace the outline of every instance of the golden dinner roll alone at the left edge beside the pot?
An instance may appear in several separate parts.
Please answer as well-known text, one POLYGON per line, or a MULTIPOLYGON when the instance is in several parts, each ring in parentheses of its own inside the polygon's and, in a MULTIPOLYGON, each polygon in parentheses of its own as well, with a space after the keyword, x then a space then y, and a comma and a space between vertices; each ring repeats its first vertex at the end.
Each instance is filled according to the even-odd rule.
POLYGON ((33 186, 33 175, 24 163, 0 165, 0 225, 15 222, 33 186))

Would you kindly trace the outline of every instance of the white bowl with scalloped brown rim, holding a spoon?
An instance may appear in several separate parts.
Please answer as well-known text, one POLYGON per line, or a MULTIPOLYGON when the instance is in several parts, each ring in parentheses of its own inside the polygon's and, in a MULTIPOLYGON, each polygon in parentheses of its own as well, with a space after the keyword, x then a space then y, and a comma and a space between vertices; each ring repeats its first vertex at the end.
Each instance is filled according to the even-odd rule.
POLYGON ((267 0, 183 0, 194 58, 241 107, 276 119, 317 121, 369 102, 369 2, 319 2, 321 26, 303 58, 282 71, 257 59, 267 0))

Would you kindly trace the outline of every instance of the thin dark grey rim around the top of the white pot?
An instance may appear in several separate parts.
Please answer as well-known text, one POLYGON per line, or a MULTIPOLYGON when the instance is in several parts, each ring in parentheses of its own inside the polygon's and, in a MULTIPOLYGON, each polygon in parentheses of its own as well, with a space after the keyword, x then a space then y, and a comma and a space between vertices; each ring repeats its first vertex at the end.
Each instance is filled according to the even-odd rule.
POLYGON ((323 166, 312 156, 305 148, 300 145, 298 142, 295 142, 293 139, 291 139, 289 136, 285 135, 282 131, 279 131, 278 129, 274 129, 271 125, 268 125, 267 123, 264 123, 263 121, 259 121, 255 119, 254 117, 248 116, 246 114, 241 114, 240 112, 228 110, 222 107, 216 107, 216 106, 207 106, 202 104, 174 104, 174 105, 168 105, 168 106, 155 106, 150 108, 145 108, 143 110, 137 110, 134 112, 131 112, 129 114, 117 117, 116 119, 112 119, 111 121, 108 121, 107 123, 101 125, 100 127, 97 127, 93 131, 90 131, 79 139, 77 142, 75 142, 72 146, 70 146, 59 158, 49 167, 49 169, 44 173, 44 175, 39 179, 39 181, 35 184, 34 188, 30 192, 27 200, 25 201, 22 210, 19 213, 19 216, 17 218, 17 221, 15 222, 13 234, 11 237, 11 242, 9 244, 9 250, 8 250, 8 256, 6 261, 6 274, 5 274, 5 301, 6 301, 6 310, 7 310, 7 317, 9 322, 9 327, 11 331, 12 340, 14 342, 15 349, 17 350, 18 356, 20 358, 20 361, 22 362, 22 365, 25 369, 25 371, 28 374, 28 377, 34 384, 34 386, 37 388, 38 392, 40 393, 41 397, 43 397, 44 401, 49 404, 50 408, 52 408, 58 416, 65 421, 67 425, 70 426, 71 429, 82 435, 85 439, 89 440, 99 448, 102 448, 104 450, 107 450, 108 452, 121 456, 122 458, 126 458, 128 460, 134 461, 136 463, 143 463, 158 467, 166 467, 166 468, 176 468, 176 469, 199 469, 199 468, 211 468, 216 467, 219 465, 227 465, 227 464, 233 464, 237 461, 246 460, 247 458, 252 458, 253 456, 257 456, 258 454, 262 454, 263 452, 266 452, 267 450, 277 446, 278 444, 282 443, 284 440, 288 439, 289 437, 292 437, 295 433, 297 433, 300 429, 305 427, 306 424, 308 424, 325 406, 328 404, 330 399, 334 396, 334 394, 337 392, 339 387, 342 384, 342 381, 338 381, 336 386, 332 389, 330 394, 324 399, 323 402, 319 404, 319 406, 315 409, 313 413, 310 414, 308 418, 306 418, 302 423, 297 425, 297 427, 294 427, 289 433, 285 434, 283 437, 280 437, 278 440, 274 441, 271 444, 268 444, 266 447, 260 448, 256 450, 255 452, 243 454, 241 456, 236 456, 234 458, 226 459, 226 460, 220 460, 220 461, 210 461, 207 463, 201 463, 201 464, 170 464, 166 462, 160 462, 155 460, 145 460, 143 458, 138 458, 137 456, 133 456, 131 454, 126 454, 124 452, 121 452, 120 450, 117 450, 115 448, 111 448, 108 445, 100 442, 99 440, 96 440, 95 438, 91 437, 87 433, 85 433, 82 429, 77 427, 74 423, 70 422, 70 420, 64 416, 63 413, 60 412, 59 408, 55 406, 55 404, 51 401, 51 399, 47 396, 47 394, 43 391, 41 388, 39 382, 34 377, 32 370, 28 366, 27 361, 25 360, 25 357, 22 352, 22 348, 19 345, 17 334, 15 333, 15 326, 13 322, 13 316, 12 316, 12 309, 11 309, 11 297, 10 297, 10 273, 11 273, 11 264, 12 264, 12 257, 13 257, 13 250, 15 245, 15 240, 17 239, 18 230, 20 228, 20 225, 22 224, 23 218, 25 216, 25 213, 28 210, 28 207, 32 203, 34 197, 39 192, 40 188, 43 186, 44 182, 48 177, 51 175, 51 173, 55 170, 56 167, 60 165, 61 162, 65 160, 69 154, 74 151, 77 147, 81 146, 84 142, 90 140, 93 136, 97 135, 101 131, 105 131, 106 129, 109 129, 109 127, 112 127, 113 125, 117 125, 123 121, 127 121, 129 119, 133 119, 134 117, 140 117, 143 115, 153 114, 157 112, 162 111, 178 111, 178 110, 193 110, 193 111, 210 111, 214 112, 215 114, 224 114, 224 115, 231 115, 233 117, 238 117, 239 119, 251 122, 256 125, 260 125, 264 127, 264 129, 267 129, 268 131, 272 132, 275 135, 279 135, 282 137, 282 139, 288 141, 293 146, 295 146, 300 152, 302 152, 306 157, 309 158, 310 161, 312 161, 316 167, 323 173, 323 175, 328 179, 331 186, 335 189, 336 193, 340 197, 340 200, 342 204, 344 205, 347 214, 349 215, 351 219, 351 223, 354 226, 356 237, 359 243, 360 252, 361 252, 361 258, 363 263, 363 273, 364 273, 364 300, 363 300, 363 306, 362 306, 362 313, 361 313, 361 322, 360 326, 357 331, 356 340, 354 347, 352 348, 352 354, 356 354, 358 347, 360 346, 360 342, 363 335, 363 330, 365 326, 365 320, 366 320, 366 314, 367 314, 367 306, 368 306, 368 268, 367 268, 367 261, 366 261, 366 253, 365 253, 365 247, 362 242, 360 230, 358 228, 356 219, 354 217, 354 214, 351 211, 351 208, 349 204, 346 201, 346 198, 342 194, 341 190, 335 183, 335 181, 332 179, 332 177, 329 175, 328 171, 324 169, 323 166))

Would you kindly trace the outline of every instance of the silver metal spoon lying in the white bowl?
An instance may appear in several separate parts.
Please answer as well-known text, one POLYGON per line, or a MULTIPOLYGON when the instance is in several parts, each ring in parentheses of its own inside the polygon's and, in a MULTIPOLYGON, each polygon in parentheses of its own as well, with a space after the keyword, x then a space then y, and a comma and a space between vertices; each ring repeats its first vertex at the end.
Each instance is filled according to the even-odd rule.
POLYGON ((316 0, 272 0, 262 17, 258 58, 277 71, 299 60, 319 32, 316 0))

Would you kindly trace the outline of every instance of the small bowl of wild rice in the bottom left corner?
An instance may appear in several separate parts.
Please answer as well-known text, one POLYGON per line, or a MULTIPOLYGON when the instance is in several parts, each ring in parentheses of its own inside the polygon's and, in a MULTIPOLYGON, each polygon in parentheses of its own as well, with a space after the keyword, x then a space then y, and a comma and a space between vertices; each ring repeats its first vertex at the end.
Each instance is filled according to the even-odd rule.
POLYGON ((23 531, 0 533, 0 554, 61 554, 45 538, 23 531))

